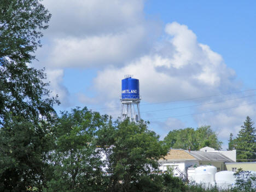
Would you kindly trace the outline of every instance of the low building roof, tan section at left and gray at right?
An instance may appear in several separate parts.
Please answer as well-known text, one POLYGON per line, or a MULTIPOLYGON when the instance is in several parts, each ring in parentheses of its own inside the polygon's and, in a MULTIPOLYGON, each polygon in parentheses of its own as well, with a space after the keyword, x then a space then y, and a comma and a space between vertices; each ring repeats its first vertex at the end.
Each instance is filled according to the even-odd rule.
POLYGON ((184 149, 170 149, 164 158, 160 161, 185 161, 185 160, 198 160, 198 161, 217 161, 217 162, 234 162, 222 153, 219 152, 200 152, 188 151, 184 149))

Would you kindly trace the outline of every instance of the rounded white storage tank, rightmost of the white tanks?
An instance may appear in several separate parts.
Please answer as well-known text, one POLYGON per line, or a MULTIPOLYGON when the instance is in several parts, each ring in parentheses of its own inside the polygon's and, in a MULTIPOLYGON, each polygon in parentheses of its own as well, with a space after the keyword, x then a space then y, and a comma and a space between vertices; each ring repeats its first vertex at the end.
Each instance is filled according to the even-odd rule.
POLYGON ((228 189, 234 187, 236 178, 232 171, 220 171, 215 174, 216 185, 220 189, 228 189))

